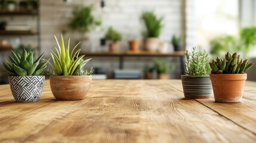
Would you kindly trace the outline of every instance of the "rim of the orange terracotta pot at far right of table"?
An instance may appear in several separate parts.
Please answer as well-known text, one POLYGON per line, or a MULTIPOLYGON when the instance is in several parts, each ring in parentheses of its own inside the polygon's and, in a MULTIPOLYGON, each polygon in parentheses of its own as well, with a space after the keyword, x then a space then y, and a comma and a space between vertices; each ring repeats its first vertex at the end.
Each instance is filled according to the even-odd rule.
POLYGON ((211 80, 246 80, 247 73, 238 74, 209 74, 211 80))

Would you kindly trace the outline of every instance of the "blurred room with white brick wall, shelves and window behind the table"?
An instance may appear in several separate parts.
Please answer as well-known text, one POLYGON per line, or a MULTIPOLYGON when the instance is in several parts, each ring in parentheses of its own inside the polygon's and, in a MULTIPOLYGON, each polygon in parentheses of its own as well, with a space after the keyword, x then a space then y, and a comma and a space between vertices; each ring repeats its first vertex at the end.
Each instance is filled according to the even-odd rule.
POLYGON ((60 33, 72 47, 81 41, 94 79, 180 79, 193 46, 210 59, 230 51, 256 63, 255 0, 1 0, 0 8, 0 66, 11 49, 49 58, 60 33))

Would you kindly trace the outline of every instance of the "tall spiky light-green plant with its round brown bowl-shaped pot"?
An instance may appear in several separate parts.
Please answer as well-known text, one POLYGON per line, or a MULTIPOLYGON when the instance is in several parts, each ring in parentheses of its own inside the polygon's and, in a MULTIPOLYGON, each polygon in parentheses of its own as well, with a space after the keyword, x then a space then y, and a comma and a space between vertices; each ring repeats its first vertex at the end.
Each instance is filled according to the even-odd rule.
POLYGON ((83 100, 90 88, 93 72, 92 68, 90 71, 84 70, 84 66, 91 59, 83 60, 85 55, 78 56, 81 49, 75 52, 75 48, 79 43, 70 53, 70 39, 66 49, 62 35, 60 44, 56 37, 55 40, 57 53, 51 51, 54 66, 51 65, 52 69, 48 70, 51 92, 57 100, 83 100))

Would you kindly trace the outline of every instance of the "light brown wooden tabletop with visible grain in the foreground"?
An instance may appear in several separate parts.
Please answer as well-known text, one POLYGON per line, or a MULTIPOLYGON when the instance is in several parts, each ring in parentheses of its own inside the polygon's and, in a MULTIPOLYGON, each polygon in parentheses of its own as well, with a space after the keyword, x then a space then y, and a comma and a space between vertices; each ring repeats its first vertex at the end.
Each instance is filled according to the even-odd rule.
POLYGON ((243 101, 183 100, 180 80, 94 80, 87 98, 37 102, 0 86, 0 142, 256 142, 256 83, 243 101))

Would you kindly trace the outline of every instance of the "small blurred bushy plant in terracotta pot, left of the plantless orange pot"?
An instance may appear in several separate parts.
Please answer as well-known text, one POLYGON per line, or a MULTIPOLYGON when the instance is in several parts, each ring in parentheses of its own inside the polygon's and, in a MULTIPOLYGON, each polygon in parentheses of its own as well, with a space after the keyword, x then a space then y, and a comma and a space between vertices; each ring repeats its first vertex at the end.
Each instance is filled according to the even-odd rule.
POLYGON ((119 52, 120 45, 118 41, 121 41, 122 36, 119 32, 117 32, 112 27, 109 27, 107 33, 105 35, 105 39, 111 41, 109 43, 109 51, 110 52, 119 52))

